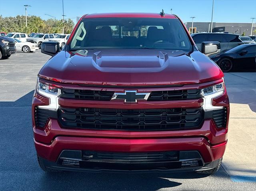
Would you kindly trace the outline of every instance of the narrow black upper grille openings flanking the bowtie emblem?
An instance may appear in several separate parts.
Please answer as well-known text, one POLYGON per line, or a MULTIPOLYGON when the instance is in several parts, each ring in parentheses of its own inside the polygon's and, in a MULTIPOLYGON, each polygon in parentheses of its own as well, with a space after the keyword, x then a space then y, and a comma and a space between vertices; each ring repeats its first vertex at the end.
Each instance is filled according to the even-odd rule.
MULTIPOLYGON (((60 97, 79 100, 111 100, 114 91, 62 89, 60 97)), ((200 89, 152 91, 148 101, 189 100, 201 98, 200 89)))

